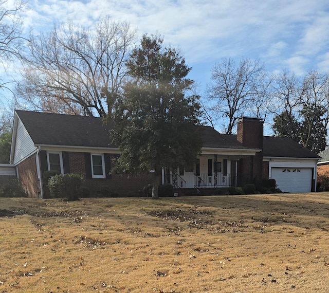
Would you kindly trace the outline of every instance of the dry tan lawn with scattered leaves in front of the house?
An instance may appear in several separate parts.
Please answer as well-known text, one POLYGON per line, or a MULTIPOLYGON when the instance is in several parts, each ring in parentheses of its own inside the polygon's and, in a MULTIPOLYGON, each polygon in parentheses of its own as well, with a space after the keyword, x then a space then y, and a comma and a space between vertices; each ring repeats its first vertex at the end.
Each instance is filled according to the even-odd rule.
POLYGON ((327 292, 328 195, 0 198, 0 292, 327 292))

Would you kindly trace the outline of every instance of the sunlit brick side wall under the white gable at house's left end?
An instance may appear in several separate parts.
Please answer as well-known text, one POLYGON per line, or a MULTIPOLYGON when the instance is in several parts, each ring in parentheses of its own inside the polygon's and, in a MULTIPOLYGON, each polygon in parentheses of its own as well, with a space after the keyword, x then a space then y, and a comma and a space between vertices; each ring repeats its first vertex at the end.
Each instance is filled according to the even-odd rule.
POLYGON ((36 172, 35 154, 17 165, 19 181, 29 197, 39 198, 40 181, 36 172))

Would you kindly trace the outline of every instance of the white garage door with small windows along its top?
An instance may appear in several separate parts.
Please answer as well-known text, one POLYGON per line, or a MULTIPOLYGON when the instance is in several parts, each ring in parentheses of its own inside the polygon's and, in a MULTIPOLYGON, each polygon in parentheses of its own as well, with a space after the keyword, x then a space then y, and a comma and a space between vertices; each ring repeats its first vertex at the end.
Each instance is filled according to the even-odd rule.
POLYGON ((312 168, 274 168, 271 175, 282 192, 310 192, 312 168))

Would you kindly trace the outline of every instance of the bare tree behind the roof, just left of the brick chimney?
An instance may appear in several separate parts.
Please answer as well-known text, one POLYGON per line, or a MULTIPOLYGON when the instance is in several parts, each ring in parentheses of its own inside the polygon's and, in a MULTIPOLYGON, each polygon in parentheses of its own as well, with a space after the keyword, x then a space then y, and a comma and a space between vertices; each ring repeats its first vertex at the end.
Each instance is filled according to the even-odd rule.
POLYGON ((236 120, 254 115, 261 109, 268 85, 266 72, 258 60, 242 59, 236 65, 233 59, 222 59, 212 69, 212 84, 208 86, 207 111, 213 120, 223 121, 227 134, 233 132, 236 120))

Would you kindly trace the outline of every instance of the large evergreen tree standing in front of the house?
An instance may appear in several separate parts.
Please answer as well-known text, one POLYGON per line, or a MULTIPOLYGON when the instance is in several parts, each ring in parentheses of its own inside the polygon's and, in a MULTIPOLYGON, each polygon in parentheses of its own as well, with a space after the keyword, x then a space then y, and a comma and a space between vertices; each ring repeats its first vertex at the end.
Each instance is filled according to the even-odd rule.
POLYGON ((154 171, 152 197, 158 197, 162 167, 191 166, 202 147, 198 96, 188 95, 193 80, 185 59, 162 48, 159 36, 143 35, 127 67, 131 81, 116 104, 112 137, 120 145, 116 169, 154 171))

